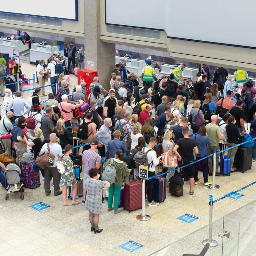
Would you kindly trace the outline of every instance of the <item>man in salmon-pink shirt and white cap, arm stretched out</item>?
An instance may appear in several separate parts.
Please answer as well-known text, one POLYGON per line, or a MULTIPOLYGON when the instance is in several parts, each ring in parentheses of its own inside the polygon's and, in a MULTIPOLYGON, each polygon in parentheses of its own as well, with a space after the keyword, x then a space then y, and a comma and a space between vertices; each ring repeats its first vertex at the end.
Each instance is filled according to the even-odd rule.
MULTIPOLYGON (((71 126, 70 120, 73 118, 73 109, 79 108, 84 103, 84 101, 80 100, 80 103, 76 105, 68 103, 67 94, 63 94, 61 96, 61 99, 62 99, 62 102, 58 104, 58 108, 60 109, 60 113, 63 116, 63 119, 65 121, 65 126, 66 127, 71 126)), ((71 128, 68 130, 70 130, 71 132, 71 128)))

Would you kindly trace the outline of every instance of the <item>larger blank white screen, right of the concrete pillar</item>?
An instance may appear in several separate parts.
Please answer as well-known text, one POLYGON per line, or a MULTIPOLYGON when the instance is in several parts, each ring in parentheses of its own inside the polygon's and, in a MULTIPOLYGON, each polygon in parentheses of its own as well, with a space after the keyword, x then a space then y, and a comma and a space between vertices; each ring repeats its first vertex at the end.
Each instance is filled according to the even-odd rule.
POLYGON ((256 47, 256 1, 129 0, 125 4, 106 0, 106 24, 164 30, 173 38, 256 47))

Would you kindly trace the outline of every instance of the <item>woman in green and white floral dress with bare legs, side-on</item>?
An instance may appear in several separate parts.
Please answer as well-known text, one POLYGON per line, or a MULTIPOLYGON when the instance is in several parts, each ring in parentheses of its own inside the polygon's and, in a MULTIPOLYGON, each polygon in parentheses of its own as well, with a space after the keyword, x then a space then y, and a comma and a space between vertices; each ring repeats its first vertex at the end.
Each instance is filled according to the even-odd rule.
POLYGON ((64 165, 64 168, 66 169, 66 172, 64 174, 60 175, 60 184, 63 185, 63 205, 68 206, 72 204, 79 204, 78 201, 76 201, 76 193, 77 193, 77 182, 76 177, 73 172, 73 168, 76 167, 76 165, 73 165, 73 161, 69 154, 72 153, 73 146, 68 144, 65 147, 64 154, 61 158, 62 164, 64 165), (68 187, 73 186, 72 190, 72 204, 69 204, 67 202, 67 190, 68 187))

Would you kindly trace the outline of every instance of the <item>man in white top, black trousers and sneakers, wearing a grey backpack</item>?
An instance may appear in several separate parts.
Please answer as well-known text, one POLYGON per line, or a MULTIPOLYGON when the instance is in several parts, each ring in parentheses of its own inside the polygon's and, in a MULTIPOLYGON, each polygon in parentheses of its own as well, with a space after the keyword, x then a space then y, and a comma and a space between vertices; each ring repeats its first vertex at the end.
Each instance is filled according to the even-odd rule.
MULTIPOLYGON (((150 138, 148 147, 142 148, 143 152, 147 152, 150 150, 147 154, 148 158, 148 178, 155 176, 155 170, 156 170, 156 165, 159 163, 162 163, 160 159, 157 159, 156 157, 156 151, 153 150, 153 148, 156 146, 158 143, 158 140, 155 137, 150 138)), ((153 185, 154 185, 154 179, 147 180, 147 185, 148 185, 148 206, 157 206, 159 203, 156 203, 153 200, 153 185)))

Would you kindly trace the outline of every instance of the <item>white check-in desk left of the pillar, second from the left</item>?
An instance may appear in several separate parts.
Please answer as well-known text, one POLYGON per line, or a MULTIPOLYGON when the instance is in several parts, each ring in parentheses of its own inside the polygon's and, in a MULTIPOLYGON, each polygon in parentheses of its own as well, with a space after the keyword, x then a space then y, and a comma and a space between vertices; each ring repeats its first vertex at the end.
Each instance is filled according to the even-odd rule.
POLYGON ((56 45, 31 44, 31 49, 29 50, 30 62, 36 63, 36 60, 45 60, 45 63, 47 63, 47 59, 51 57, 55 51, 60 52, 61 56, 63 56, 63 51, 60 51, 56 45))

